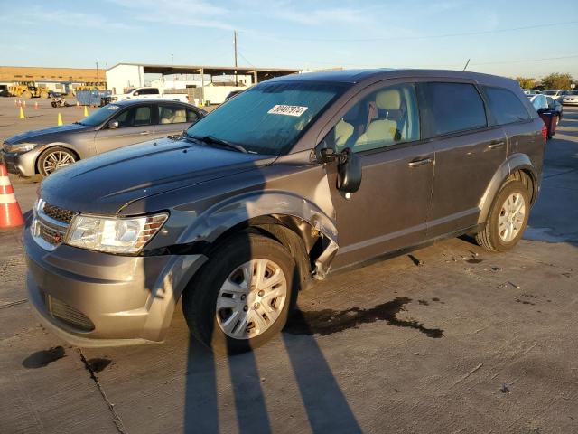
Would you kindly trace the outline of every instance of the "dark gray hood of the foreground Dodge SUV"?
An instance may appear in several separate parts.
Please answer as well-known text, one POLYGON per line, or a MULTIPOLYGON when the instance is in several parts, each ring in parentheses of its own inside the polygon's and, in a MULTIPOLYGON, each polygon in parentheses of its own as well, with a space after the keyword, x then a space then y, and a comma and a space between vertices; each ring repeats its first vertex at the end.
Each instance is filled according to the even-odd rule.
POLYGON ((75 212, 115 214, 126 204, 271 164, 275 156, 163 138, 81 160, 42 181, 47 203, 75 212))

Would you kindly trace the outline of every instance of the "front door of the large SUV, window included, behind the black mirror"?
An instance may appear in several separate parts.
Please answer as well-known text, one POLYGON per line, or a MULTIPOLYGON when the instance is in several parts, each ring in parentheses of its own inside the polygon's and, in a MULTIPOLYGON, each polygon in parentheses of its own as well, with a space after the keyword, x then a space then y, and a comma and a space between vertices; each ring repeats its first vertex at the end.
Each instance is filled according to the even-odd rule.
POLYGON ((362 182, 350 196, 328 165, 340 249, 339 269, 424 241, 433 179, 433 147, 421 140, 415 85, 377 85, 351 101, 325 142, 359 155, 362 182))

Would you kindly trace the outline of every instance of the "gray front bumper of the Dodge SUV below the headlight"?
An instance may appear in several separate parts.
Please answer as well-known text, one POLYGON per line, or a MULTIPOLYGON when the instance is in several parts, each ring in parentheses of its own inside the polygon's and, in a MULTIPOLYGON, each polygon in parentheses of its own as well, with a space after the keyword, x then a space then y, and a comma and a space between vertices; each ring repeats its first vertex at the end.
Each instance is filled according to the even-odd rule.
POLYGON ((207 259, 116 256, 65 244, 47 251, 28 226, 23 246, 37 315, 56 335, 84 347, 163 342, 182 290, 207 259))

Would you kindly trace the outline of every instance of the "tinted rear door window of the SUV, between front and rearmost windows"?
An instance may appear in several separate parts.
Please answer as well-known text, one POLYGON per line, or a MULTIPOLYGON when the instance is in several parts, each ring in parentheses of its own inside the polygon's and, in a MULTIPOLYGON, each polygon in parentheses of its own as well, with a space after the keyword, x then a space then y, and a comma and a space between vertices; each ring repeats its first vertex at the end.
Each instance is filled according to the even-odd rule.
POLYGON ((486 110, 476 88, 468 83, 424 83, 424 111, 433 136, 486 127, 486 110))

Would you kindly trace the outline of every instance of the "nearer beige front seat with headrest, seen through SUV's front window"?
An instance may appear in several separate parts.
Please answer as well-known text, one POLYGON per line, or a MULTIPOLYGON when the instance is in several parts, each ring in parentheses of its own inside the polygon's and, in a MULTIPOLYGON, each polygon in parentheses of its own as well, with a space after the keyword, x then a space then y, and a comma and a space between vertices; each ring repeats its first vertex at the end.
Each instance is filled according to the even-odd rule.
POLYGON ((387 89, 378 92, 376 95, 376 107, 386 112, 385 119, 370 121, 367 130, 359 136, 355 146, 367 145, 372 142, 389 145, 401 138, 397 122, 388 118, 389 111, 401 109, 401 94, 399 90, 387 89))

